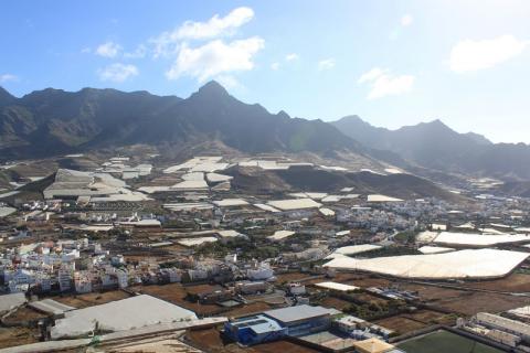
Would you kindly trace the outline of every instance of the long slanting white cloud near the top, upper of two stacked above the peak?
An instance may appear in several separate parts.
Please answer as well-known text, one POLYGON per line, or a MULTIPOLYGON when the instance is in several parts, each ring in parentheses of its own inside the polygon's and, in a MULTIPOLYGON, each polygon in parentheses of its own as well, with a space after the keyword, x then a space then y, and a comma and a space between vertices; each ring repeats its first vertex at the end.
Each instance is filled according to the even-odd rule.
POLYGON ((179 50, 179 43, 186 40, 205 40, 232 35, 243 24, 254 18, 251 8, 236 8, 224 18, 213 15, 206 22, 186 21, 173 31, 161 33, 158 38, 151 39, 155 45, 155 57, 166 56, 179 50))

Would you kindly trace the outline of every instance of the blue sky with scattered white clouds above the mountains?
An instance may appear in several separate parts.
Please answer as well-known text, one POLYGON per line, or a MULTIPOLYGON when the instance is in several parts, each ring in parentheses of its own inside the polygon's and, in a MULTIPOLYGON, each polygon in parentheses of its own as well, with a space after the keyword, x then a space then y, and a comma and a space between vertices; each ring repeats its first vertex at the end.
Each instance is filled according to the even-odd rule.
POLYGON ((7 0, 0 86, 188 97, 210 79, 272 113, 530 142, 527 0, 7 0))

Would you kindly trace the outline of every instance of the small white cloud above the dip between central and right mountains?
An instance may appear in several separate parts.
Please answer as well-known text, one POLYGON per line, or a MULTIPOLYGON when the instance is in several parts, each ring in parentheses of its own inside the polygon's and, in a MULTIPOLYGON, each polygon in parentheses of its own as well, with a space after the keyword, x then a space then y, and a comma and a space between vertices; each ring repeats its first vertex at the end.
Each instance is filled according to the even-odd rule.
POLYGON ((364 73, 358 83, 369 85, 368 99, 375 99, 409 93, 414 85, 414 79, 415 77, 412 75, 396 76, 391 74, 389 69, 375 67, 364 73))

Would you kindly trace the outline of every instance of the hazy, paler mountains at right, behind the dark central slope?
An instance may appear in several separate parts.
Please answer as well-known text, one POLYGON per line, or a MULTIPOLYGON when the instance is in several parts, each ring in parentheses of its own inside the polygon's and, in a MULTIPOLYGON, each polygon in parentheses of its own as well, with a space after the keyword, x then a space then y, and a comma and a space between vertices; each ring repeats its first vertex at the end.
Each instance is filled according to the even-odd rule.
POLYGON ((523 143, 492 143, 474 132, 458 133, 441 120, 396 130, 373 127, 358 116, 331 124, 367 147, 390 150, 424 168, 530 180, 530 147, 523 143))

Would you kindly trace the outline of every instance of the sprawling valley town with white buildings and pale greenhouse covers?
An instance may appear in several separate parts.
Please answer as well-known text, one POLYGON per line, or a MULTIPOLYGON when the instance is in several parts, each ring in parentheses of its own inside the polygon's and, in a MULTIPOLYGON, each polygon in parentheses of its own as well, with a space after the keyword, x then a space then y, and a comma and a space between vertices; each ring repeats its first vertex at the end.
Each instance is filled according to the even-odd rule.
POLYGON ((399 169, 283 154, 62 161, 2 165, 0 352, 530 352, 530 202, 492 180, 398 197, 318 185, 399 169), (324 179, 271 176, 300 174, 324 179))

